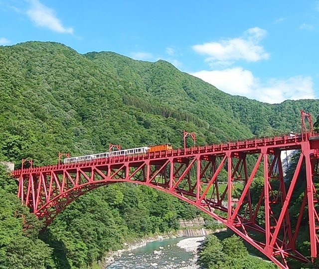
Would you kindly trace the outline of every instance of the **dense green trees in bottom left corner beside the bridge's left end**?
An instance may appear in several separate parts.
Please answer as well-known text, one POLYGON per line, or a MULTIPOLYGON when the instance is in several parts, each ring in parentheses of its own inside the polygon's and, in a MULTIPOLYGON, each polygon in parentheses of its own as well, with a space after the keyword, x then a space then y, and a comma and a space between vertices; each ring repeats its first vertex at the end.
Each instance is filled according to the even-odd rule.
POLYGON ((42 223, 22 206, 0 166, 0 269, 53 269, 52 249, 38 239, 42 223))

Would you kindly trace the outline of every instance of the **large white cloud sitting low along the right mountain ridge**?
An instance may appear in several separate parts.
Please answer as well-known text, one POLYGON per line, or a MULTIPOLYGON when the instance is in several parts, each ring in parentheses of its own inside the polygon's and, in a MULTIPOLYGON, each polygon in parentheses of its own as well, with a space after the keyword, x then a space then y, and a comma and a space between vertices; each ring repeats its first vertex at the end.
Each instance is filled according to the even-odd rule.
POLYGON ((242 67, 225 70, 199 71, 192 73, 218 89, 232 94, 246 96, 266 103, 281 103, 287 99, 313 99, 315 91, 309 76, 295 76, 286 80, 270 79, 261 83, 259 78, 242 67))

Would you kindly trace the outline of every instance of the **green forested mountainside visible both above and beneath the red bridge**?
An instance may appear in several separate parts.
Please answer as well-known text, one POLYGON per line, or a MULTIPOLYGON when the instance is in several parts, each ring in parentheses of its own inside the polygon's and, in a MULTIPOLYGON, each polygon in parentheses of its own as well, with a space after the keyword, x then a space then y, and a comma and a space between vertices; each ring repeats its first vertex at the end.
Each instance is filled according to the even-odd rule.
MULTIPOLYGON (((301 109, 319 114, 319 100, 265 104, 162 60, 81 55, 53 42, 0 46, 0 96, 0 159, 17 166, 21 158, 55 163, 59 151, 103 152, 109 143, 179 147, 183 130, 195 132, 198 144, 298 131, 301 109)), ((0 183, 0 268, 87 268, 127 239, 176 229, 178 218, 199 214, 155 190, 114 185, 72 203, 39 243, 41 223, 14 200, 14 182, 3 175, 0 183), (21 253, 30 257, 19 260, 21 253)))

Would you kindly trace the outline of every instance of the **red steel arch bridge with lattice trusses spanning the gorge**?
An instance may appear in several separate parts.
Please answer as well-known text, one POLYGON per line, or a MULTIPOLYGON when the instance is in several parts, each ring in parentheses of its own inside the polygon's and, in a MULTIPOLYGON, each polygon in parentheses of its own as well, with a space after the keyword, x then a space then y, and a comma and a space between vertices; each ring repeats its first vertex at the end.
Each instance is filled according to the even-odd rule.
POLYGON ((310 257, 318 257, 315 179, 319 134, 306 129, 307 118, 310 115, 302 112, 302 133, 296 135, 22 168, 13 171, 13 176, 19 180, 22 203, 45 218, 47 225, 86 192, 111 183, 132 182, 196 206, 286 269, 289 259, 309 262, 296 249, 301 224, 309 223, 310 257), (284 150, 298 150, 299 160, 288 180, 281 162, 284 150), (254 181, 258 174, 264 178, 259 188, 254 181), (218 183, 224 180, 227 188, 221 190, 218 183), (237 183, 243 184, 242 190, 236 188, 237 183), (304 198, 299 214, 293 215, 290 206, 300 194, 304 198))

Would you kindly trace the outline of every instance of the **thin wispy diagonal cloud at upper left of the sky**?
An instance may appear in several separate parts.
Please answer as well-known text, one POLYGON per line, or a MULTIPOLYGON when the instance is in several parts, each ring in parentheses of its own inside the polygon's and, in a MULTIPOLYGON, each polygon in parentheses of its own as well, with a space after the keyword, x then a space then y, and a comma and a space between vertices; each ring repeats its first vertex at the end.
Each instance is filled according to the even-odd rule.
POLYGON ((63 26, 53 9, 45 6, 38 0, 28 0, 30 7, 26 11, 28 17, 40 27, 49 28, 58 33, 73 34, 73 28, 63 26))

